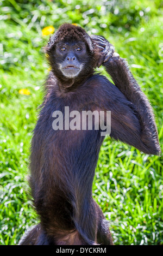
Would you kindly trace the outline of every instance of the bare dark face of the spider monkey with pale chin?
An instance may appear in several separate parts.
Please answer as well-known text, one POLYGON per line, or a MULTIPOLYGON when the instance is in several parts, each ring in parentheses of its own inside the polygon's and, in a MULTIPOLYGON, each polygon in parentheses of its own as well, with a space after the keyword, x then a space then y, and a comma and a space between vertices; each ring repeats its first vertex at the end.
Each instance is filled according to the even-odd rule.
POLYGON ((58 68, 66 78, 76 78, 87 62, 87 49, 83 42, 58 43, 55 47, 58 68))

